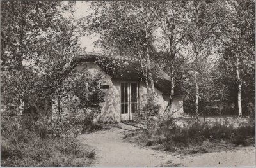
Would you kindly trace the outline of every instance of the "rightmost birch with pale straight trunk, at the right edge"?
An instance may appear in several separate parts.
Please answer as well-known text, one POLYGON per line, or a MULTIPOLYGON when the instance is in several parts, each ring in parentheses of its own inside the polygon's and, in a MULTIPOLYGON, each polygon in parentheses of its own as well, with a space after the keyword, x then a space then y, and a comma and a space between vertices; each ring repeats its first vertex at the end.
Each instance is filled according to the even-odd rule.
POLYGON ((227 1, 220 40, 223 57, 236 72, 238 116, 242 116, 243 78, 255 71, 255 1, 227 1))

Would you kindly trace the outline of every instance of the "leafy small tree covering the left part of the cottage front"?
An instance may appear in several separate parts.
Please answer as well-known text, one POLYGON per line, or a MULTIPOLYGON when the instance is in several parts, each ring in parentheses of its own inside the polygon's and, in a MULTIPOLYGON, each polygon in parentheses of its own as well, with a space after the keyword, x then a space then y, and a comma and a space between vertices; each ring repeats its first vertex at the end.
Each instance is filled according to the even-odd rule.
POLYGON ((105 101, 105 93, 100 90, 104 75, 90 73, 86 67, 71 71, 55 92, 54 118, 74 123, 80 132, 92 131, 93 119, 101 112, 101 104, 105 101))

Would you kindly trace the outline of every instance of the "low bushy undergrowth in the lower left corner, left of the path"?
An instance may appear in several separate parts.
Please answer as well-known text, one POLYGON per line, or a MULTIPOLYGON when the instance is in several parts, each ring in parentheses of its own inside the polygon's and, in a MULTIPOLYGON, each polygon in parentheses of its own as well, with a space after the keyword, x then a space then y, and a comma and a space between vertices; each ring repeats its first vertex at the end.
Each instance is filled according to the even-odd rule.
POLYGON ((1 135, 1 165, 3 166, 88 166, 94 151, 79 146, 70 134, 56 136, 51 122, 31 122, 26 129, 17 122, 5 125, 1 135))

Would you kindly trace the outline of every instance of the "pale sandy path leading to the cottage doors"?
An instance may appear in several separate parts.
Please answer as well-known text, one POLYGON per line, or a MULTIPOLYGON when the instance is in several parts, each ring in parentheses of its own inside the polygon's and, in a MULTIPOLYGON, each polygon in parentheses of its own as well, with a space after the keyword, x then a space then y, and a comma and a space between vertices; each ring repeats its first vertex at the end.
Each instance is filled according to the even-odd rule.
POLYGON ((255 147, 200 155, 172 155, 125 142, 125 134, 138 129, 137 126, 117 123, 104 125, 104 128, 79 136, 83 144, 95 148, 94 166, 255 166, 255 147))

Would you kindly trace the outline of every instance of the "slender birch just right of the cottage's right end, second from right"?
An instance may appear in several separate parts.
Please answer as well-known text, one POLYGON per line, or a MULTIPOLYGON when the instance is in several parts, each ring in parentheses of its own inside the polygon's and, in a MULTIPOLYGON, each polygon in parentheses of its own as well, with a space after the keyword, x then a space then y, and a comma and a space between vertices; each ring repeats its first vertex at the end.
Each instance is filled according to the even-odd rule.
POLYGON ((198 102, 200 99, 200 81, 198 75, 200 72, 200 62, 207 59, 212 54, 218 36, 214 32, 220 31, 220 18, 223 15, 218 1, 191 1, 189 3, 189 24, 187 28, 186 39, 189 44, 186 50, 191 53, 193 58, 193 76, 195 86, 195 114, 198 121, 199 111, 198 102))

